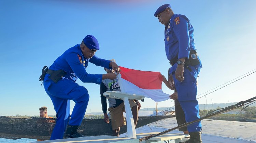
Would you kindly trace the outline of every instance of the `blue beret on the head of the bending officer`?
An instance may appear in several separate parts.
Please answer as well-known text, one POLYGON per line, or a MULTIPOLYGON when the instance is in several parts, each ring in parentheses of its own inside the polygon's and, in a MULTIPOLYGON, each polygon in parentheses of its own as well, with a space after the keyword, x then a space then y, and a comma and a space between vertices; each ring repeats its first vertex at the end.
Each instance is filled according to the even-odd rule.
POLYGON ((98 40, 93 35, 87 35, 84 37, 84 44, 92 51, 100 50, 98 40))

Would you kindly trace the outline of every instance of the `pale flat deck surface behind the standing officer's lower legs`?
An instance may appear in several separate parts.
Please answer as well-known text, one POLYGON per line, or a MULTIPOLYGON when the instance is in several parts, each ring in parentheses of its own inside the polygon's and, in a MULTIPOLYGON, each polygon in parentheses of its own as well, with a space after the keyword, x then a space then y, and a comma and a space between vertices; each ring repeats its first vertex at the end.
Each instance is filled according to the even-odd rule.
MULTIPOLYGON (((203 143, 256 143, 256 123, 222 120, 203 120, 201 123, 203 143)), ((137 128, 136 133, 162 132, 176 126, 176 119, 169 118, 137 128)), ((182 132, 174 130, 170 133, 182 132)), ((125 135, 126 133, 120 137, 125 135)))

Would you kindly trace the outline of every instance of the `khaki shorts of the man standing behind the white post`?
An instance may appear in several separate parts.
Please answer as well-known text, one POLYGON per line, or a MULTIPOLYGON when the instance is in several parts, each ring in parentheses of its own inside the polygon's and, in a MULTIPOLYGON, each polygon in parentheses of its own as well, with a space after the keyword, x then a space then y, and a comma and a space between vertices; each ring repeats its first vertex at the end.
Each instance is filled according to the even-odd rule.
MULTIPOLYGON (((131 109, 133 106, 138 106, 134 100, 129 100, 129 103, 130 103, 131 109)), ((110 114, 112 130, 115 130, 118 127, 126 125, 124 114, 123 114, 123 112, 125 112, 124 102, 115 108, 109 107, 108 110, 109 110, 109 114, 110 114)))

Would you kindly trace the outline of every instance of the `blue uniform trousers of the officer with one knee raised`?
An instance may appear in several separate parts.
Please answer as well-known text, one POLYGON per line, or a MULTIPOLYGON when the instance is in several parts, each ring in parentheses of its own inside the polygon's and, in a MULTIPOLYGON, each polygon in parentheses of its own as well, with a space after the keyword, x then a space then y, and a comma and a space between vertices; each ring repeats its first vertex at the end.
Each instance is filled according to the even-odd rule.
POLYGON ((53 102, 57 116, 51 140, 62 139, 67 124, 72 126, 81 125, 89 101, 88 91, 67 78, 60 80, 58 83, 54 83, 51 79, 46 80, 44 87, 53 102), (75 106, 69 120, 70 100, 75 102, 75 106))

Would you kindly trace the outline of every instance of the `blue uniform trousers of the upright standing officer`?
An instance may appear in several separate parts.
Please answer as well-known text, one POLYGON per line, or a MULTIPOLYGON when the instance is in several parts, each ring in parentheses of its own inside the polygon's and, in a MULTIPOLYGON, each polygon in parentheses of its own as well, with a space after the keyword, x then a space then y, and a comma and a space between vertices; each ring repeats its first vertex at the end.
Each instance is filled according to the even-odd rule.
MULTIPOLYGON (((198 66, 188 66, 184 67, 184 81, 180 82, 175 78, 173 72, 172 76, 174 79, 175 88, 178 92, 178 100, 181 104, 181 107, 185 113, 186 122, 194 121, 200 119, 199 116, 199 106, 198 101, 196 99, 197 95, 197 76, 200 72, 199 65, 198 66)), ((201 121, 193 123, 187 126, 188 132, 201 131, 202 125, 201 121)))

